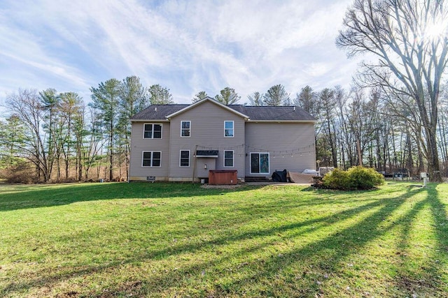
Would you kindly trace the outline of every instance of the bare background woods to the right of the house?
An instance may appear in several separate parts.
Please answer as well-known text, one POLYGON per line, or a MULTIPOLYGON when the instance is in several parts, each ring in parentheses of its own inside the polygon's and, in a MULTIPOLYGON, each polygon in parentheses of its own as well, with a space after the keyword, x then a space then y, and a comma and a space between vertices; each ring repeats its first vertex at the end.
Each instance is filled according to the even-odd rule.
MULTIPOLYGON (((446 96, 444 96, 446 98, 446 96)), ((318 119, 316 156, 321 166, 373 167, 384 173, 428 172, 428 148, 416 108, 400 105, 382 89, 353 86, 314 92, 304 87, 295 103, 318 119)), ((440 105, 437 147, 441 176, 448 176, 446 101, 440 105)))

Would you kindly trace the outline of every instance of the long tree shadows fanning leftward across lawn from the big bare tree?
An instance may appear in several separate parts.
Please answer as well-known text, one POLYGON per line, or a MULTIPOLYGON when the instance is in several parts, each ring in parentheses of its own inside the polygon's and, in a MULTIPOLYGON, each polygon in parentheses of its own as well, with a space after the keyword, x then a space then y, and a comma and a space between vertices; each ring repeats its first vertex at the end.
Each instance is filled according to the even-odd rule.
MULTIPOLYGON (((339 270, 342 259, 355 253, 358 249, 365 246, 370 241, 381 237, 388 230, 393 228, 393 225, 384 227, 384 218, 391 216, 393 212, 400 208, 402 204, 409 198, 412 198, 414 193, 408 192, 399 197, 378 199, 373 202, 362 204, 358 207, 346 209, 331 214, 330 216, 322 216, 320 218, 313 218, 297 223, 290 223, 273 228, 253 229, 244 232, 237 232, 236 234, 224 234, 217 232, 216 237, 207 241, 194 244, 181 244, 169 248, 163 248, 155 251, 146 251, 138 253, 125 260, 109 262, 104 265, 89 265, 84 267, 71 267, 66 269, 64 273, 60 271, 38 271, 35 278, 30 278, 29 281, 14 281, 6 285, 4 292, 15 292, 17 290, 38 288, 42 286, 52 286, 61 281, 74 278, 76 276, 86 276, 90 274, 97 274, 104 271, 120 270, 125 265, 132 265, 137 262, 155 262, 166 258, 173 258, 176 255, 183 253, 196 253, 207 248, 211 251, 226 248, 232 244, 238 244, 241 241, 263 239, 260 243, 255 243, 250 247, 243 247, 233 253, 223 253, 221 257, 213 260, 202 260, 196 262, 194 265, 181 267, 178 270, 169 270, 162 272, 162 274, 153 274, 148 278, 141 278, 139 287, 132 289, 126 288, 125 285, 117 285, 115 288, 109 289, 111 293, 121 294, 136 294, 136 295, 155 295, 151 292, 154 289, 174 289, 181 287, 185 277, 191 274, 199 274, 200 271, 207 269, 208 271, 216 271, 216 266, 223 262, 227 262, 229 258, 234 258, 237 255, 239 258, 250 259, 251 254, 259 252, 263 248, 270 247, 275 249, 274 244, 278 241, 290 240, 294 241, 297 237, 306 237, 307 233, 325 230, 331 225, 337 225, 340 221, 345 221, 356 216, 364 216, 364 218, 354 225, 346 228, 341 228, 336 233, 330 233, 323 236, 322 239, 314 241, 311 244, 300 246, 300 248, 292 249, 288 252, 282 252, 278 255, 271 255, 262 260, 252 260, 245 265, 248 269, 244 277, 234 276, 232 273, 222 273, 227 275, 231 281, 222 283, 217 279, 214 282, 214 288, 203 288, 204 292, 209 292, 210 295, 226 296, 226 295, 243 295, 245 288, 253 287, 253 284, 260 285, 266 281, 272 280, 276 274, 279 274, 284 268, 294 266, 295 263, 309 262, 308 260, 315 260, 316 255, 321 257, 321 260, 315 260, 312 265, 325 271, 339 270), (374 211, 372 211, 374 210, 374 211), (283 236, 278 235, 285 233, 283 236), (253 273, 255 272, 255 273, 253 273), (152 290, 151 290, 152 289, 152 290)), ((221 276, 222 277, 222 276, 221 276)), ((291 282, 295 283, 295 282, 291 282)), ((262 287, 260 287, 262 288, 262 287)), ((266 286, 265 286, 266 288, 266 286)), ((279 291, 282 295, 281 289, 276 289, 276 285, 267 285, 270 288, 271 294, 279 291)), ((285 289, 283 289, 285 290, 285 289)), ((319 292, 319 286, 316 283, 309 285, 308 288, 303 288, 300 295, 315 295, 319 292)), ((174 292, 171 295, 174 295, 174 292)), ((120 294, 120 295, 121 295, 120 294)), ((258 295, 268 295, 268 292, 258 290, 258 295)), ((92 295, 97 295, 92 292, 92 295)))

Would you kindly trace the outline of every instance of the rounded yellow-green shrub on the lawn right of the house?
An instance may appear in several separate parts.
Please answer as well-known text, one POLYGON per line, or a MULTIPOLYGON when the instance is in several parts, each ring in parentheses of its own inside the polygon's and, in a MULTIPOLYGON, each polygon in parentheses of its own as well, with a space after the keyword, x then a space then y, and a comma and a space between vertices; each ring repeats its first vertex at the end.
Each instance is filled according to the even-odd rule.
POLYGON ((368 167, 351 167, 349 170, 339 170, 323 177, 323 188, 349 190, 366 190, 384 184, 383 175, 368 167))

